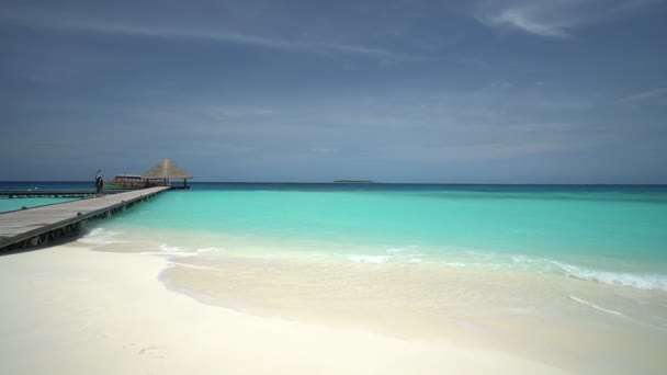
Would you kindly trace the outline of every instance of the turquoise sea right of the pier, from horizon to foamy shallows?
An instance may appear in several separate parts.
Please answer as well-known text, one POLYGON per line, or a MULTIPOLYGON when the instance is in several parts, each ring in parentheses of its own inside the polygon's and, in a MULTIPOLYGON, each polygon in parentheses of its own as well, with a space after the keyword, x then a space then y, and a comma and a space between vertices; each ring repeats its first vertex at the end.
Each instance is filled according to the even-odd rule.
POLYGON ((260 252, 556 272, 667 292, 666 186, 195 184, 101 225, 204 231, 213 248, 225 247, 219 234, 293 245, 260 252))

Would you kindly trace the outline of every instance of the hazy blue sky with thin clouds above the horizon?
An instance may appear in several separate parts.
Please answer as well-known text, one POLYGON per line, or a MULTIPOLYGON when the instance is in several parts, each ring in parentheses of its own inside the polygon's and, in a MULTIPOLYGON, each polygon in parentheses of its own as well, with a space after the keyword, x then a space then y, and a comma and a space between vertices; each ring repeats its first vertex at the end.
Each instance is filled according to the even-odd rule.
POLYGON ((0 0, 0 180, 667 183, 667 1, 0 0))

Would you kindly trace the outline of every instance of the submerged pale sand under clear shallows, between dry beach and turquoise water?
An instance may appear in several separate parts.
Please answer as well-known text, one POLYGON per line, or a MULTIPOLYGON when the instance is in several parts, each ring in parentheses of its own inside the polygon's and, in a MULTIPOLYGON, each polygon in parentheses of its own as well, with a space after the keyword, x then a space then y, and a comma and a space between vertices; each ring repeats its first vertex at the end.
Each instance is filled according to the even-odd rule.
POLYGON ((169 263, 159 276, 169 289, 252 316, 408 341, 444 340, 579 374, 663 374, 667 365, 659 292, 437 263, 364 264, 226 251, 183 253, 169 263))

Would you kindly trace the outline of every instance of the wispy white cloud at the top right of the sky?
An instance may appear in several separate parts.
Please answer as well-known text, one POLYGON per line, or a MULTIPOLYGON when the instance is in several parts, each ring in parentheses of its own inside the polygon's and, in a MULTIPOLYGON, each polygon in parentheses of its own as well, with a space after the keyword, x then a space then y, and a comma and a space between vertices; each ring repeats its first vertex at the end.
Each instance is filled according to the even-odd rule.
POLYGON ((475 18, 487 26, 529 34, 568 36, 574 30, 629 16, 659 0, 485 0, 475 18))

